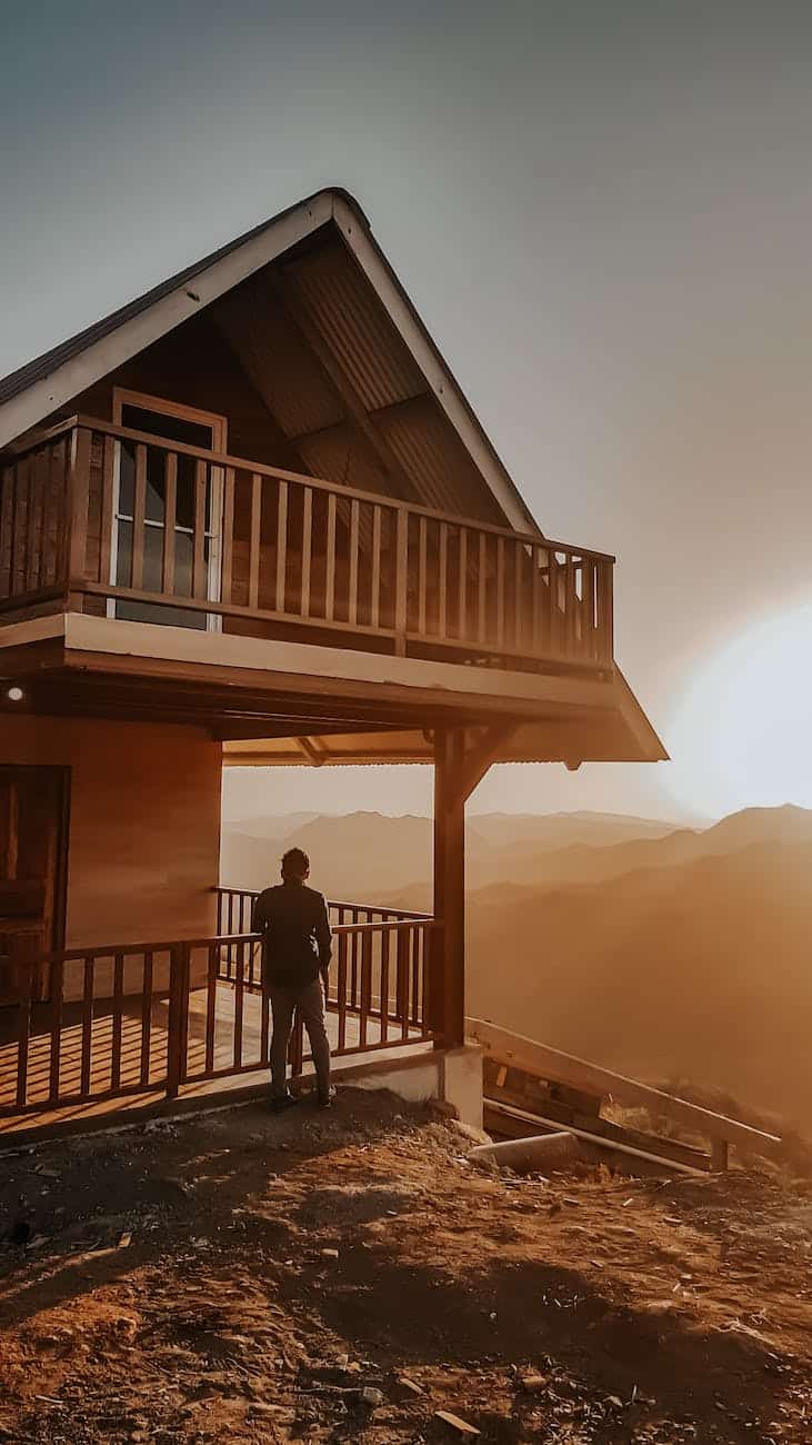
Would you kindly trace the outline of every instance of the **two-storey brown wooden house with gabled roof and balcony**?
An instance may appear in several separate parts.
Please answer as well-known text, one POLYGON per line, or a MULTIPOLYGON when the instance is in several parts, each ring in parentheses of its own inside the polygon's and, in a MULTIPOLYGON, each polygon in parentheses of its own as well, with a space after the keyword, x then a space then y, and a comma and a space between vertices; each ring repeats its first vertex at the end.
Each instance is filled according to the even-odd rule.
POLYGON ((433 913, 337 905, 331 1010, 340 1053, 462 1046, 472 788, 665 754, 614 559, 539 529, 360 207, 7 376, 0 473, 0 1113, 263 1065, 231 764, 433 763, 433 913))

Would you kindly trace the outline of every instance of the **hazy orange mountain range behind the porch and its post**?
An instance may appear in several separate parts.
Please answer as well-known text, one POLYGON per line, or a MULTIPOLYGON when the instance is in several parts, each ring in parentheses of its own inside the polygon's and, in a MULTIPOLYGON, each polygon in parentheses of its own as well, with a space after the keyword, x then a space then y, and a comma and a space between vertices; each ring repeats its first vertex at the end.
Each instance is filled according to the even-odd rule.
MULTIPOLYGON (((812 811, 494 814, 467 837, 468 1013, 812 1130, 812 811)), ((431 909, 426 818, 233 825, 224 881, 267 883, 293 844, 332 897, 431 909)))

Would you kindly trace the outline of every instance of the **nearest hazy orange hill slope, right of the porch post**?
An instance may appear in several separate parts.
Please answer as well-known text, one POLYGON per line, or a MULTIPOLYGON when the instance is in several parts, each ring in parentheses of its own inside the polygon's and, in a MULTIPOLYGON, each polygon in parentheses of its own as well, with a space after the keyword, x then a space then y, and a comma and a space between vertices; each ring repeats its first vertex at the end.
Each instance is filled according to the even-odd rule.
POLYGON ((811 868, 812 841, 773 840, 601 883, 483 889, 468 1010, 809 1129, 811 868))

